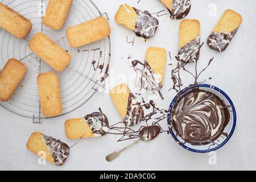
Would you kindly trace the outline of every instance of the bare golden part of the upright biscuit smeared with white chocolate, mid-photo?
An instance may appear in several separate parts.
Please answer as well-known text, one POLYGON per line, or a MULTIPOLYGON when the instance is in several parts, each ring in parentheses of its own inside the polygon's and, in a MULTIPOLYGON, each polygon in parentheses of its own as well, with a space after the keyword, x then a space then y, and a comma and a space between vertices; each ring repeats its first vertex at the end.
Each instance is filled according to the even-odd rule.
POLYGON ((155 74, 161 75, 160 83, 164 81, 166 68, 166 49, 160 47, 149 47, 146 52, 146 61, 155 74))

